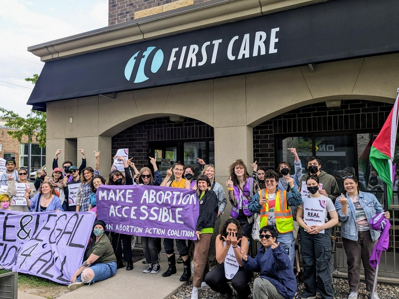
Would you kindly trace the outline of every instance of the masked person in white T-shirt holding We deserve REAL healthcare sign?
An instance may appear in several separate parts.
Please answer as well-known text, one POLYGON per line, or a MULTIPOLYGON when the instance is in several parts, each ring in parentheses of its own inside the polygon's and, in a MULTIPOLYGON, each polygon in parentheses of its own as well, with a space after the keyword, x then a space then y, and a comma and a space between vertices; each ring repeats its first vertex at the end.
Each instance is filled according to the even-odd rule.
POLYGON ((296 212, 296 221, 301 226, 300 241, 305 283, 304 292, 299 295, 299 298, 316 298, 317 288, 322 298, 333 299, 332 269, 329 266, 332 255, 329 228, 338 223, 338 215, 332 200, 318 192, 320 184, 317 175, 310 175, 306 179, 306 186, 310 195, 303 198, 304 202, 298 206, 296 212), (314 207, 315 205, 316 207, 314 207), (308 210, 318 210, 318 212, 306 212, 308 210), (330 215, 330 220, 327 215, 330 215), (322 217, 322 220, 318 218, 319 221, 322 221, 320 225, 309 222, 316 216, 322 217))

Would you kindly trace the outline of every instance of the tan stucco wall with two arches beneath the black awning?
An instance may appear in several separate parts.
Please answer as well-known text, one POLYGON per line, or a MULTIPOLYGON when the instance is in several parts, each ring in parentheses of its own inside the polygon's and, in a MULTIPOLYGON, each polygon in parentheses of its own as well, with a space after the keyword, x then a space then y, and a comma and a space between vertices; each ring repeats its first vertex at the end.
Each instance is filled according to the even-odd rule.
MULTIPOLYGON (((336 99, 394 102, 399 85, 399 54, 199 81, 47 103, 47 165, 56 149, 75 138, 88 165, 101 151, 100 168, 109 172, 111 137, 154 117, 185 116, 215 128, 217 180, 237 158, 252 163, 252 127, 294 108, 336 99), (69 118, 73 122, 69 122, 69 118)), ((81 159, 76 153, 76 160, 81 159)), ((64 159, 63 154, 59 156, 64 159)), ((249 166, 250 167, 250 166, 249 166)), ((249 169, 251 170, 251 169, 249 169)))

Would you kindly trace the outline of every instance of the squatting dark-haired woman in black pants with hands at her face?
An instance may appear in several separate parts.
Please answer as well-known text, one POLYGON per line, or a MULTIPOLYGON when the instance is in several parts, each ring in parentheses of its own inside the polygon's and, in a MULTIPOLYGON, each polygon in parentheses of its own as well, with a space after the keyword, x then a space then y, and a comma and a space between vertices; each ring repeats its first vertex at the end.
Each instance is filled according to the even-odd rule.
POLYGON ((221 293, 221 299, 230 299, 233 295, 233 290, 228 284, 229 281, 231 281, 231 286, 237 291, 238 299, 247 299, 251 295, 248 283, 251 281, 252 272, 243 267, 241 253, 241 251, 248 252, 248 250, 249 241, 243 235, 240 222, 235 218, 228 219, 222 225, 220 234, 216 238, 216 260, 221 266, 212 269, 205 276, 205 283, 213 291, 221 293), (235 273, 230 272, 231 264, 237 269, 235 273))

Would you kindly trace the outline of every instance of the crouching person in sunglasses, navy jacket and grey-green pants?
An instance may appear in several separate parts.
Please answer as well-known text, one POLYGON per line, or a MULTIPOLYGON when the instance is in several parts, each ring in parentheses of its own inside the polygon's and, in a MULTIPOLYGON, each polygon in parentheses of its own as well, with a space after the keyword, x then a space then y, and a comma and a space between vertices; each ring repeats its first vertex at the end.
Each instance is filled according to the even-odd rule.
POLYGON ((260 277, 253 282, 254 299, 292 299, 296 293, 291 261, 280 242, 277 242, 277 236, 275 226, 263 226, 259 230, 261 246, 255 258, 248 256, 245 250, 241 251, 244 268, 261 272, 260 277))

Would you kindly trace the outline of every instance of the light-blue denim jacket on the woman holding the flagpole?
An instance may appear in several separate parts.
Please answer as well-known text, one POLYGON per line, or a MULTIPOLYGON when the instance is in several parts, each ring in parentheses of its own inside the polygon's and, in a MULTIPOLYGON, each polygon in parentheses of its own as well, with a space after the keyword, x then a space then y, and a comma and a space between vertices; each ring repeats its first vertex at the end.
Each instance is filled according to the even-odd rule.
MULTIPOLYGON (((339 199, 341 197, 338 197, 339 199)), ((342 205, 339 201, 335 202, 335 209, 338 213, 338 218, 342 222, 341 224, 341 236, 343 238, 347 238, 349 240, 357 241, 358 240, 358 226, 356 225, 356 211, 355 205, 349 198, 348 193, 346 193, 346 198, 348 199, 348 215, 344 215, 342 213, 341 208, 342 205)), ((366 214, 367 221, 370 224, 371 218, 379 212, 383 212, 383 208, 377 198, 371 194, 366 192, 359 191, 359 203, 363 207, 363 210, 366 214)), ((371 229, 370 227, 371 239, 373 241, 377 240, 380 236, 380 232, 371 229)))

